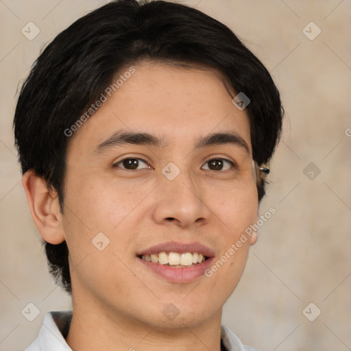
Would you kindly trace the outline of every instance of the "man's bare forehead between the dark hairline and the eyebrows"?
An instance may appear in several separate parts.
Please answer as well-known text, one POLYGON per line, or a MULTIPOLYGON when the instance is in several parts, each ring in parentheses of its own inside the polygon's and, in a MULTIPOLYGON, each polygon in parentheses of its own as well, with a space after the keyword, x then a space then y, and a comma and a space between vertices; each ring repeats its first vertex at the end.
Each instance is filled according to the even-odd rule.
POLYGON ((123 129, 157 135, 167 146, 193 145, 199 136, 228 131, 251 146, 247 114, 234 106, 219 72, 155 62, 132 67, 128 78, 119 79, 123 70, 114 77, 118 88, 110 96, 105 93, 104 103, 76 132, 73 145, 96 147, 123 129))

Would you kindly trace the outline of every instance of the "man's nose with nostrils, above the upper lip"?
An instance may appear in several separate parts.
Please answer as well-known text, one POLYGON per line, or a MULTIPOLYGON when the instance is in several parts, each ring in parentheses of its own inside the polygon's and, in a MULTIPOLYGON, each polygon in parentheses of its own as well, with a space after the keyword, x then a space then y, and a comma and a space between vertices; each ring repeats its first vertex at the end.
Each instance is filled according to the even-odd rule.
POLYGON ((156 223, 189 228, 208 222, 211 211, 206 189, 196 182, 190 171, 181 171, 173 180, 161 174, 157 191, 153 211, 156 223))

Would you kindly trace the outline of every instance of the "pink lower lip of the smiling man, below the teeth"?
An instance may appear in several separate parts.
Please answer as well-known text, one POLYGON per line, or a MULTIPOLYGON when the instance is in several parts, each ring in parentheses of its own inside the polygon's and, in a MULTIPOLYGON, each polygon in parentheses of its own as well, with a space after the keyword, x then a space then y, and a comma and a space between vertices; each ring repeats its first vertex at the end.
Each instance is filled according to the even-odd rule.
POLYGON ((186 283, 193 282, 200 276, 204 275, 204 271, 212 265, 214 257, 207 258, 202 263, 197 263, 191 267, 172 267, 169 265, 160 265, 159 263, 145 261, 140 257, 137 260, 143 265, 143 267, 150 269, 157 276, 162 276, 169 282, 175 283, 186 283))

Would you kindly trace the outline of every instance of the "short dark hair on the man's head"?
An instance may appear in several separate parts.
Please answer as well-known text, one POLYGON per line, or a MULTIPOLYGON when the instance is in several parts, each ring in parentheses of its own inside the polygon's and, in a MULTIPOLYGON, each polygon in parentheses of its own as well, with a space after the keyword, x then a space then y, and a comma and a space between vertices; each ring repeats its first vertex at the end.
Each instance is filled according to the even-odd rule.
MULTIPOLYGON (((265 66, 219 21, 186 5, 116 0, 78 19, 40 54, 14 114, 22 172, 32 169, 58 194, 63 213, 64 130, 93 104, 128 64, 156 60, 219 71, 234 92, 250 98, 252 153, 265 164, 279 141, 284 110, 265 66)), ((258 201, 265 180, 257 183, 258 201)), ((45 244, 50 273, 71 293, 68 247, 45 244)))

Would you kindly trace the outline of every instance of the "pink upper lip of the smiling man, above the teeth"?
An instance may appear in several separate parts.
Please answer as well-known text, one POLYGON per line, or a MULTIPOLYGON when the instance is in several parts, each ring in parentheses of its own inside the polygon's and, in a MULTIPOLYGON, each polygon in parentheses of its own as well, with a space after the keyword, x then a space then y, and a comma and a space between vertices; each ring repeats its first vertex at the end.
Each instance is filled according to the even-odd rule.
POLYGON ((203 254, 208 258, 215 256, 213 250, 205 245, 196 242, 180 243, 178 241, 167 241, 167 243, 154 245, 146 250, 138 252, 136 256, 158 254, 159 252, 178 252, 179 254, 185 254, 186 252, 197 252, 198 254, 203 254))

